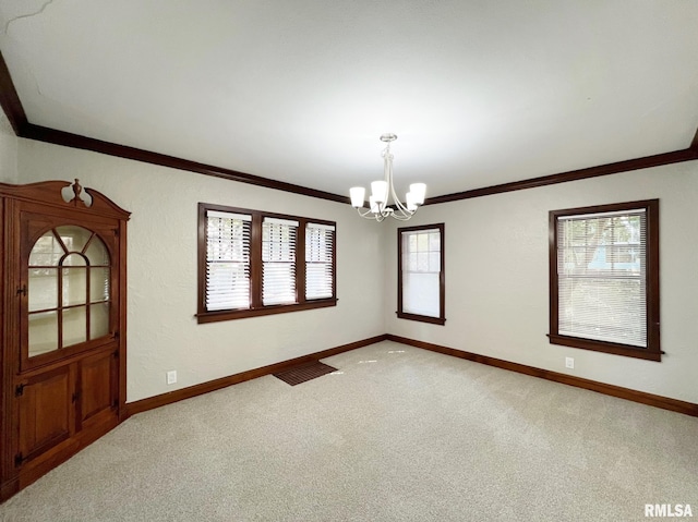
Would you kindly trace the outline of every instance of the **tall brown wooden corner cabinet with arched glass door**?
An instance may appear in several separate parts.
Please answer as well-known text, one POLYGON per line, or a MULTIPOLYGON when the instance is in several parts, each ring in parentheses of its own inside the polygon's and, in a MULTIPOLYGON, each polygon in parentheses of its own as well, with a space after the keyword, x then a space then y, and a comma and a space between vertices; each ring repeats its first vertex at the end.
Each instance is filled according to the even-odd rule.
POLYGON ((122 420, 129 213, 77 180, 0 183, 0 213, 4 500, 122 420))

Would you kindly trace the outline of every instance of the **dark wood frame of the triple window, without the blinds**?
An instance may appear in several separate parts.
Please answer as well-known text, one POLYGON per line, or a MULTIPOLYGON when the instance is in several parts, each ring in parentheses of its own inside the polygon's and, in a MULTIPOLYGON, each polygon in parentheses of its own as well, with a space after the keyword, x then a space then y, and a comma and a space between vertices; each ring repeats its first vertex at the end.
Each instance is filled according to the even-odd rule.
POLYGON ((198 292, 196 319, 202 323, 215 323, 219 320, 241 319, 261 315, 284 314, 302 309, 336 306, 337 304, 337 236, 336 223, 324 219, 311 219, 285 214, 252 210, 248 208, 228 207, 225 205, 198 204, 198 292), (208 311, 206 308, 206 211, 222 211, 252 216, 251 244, 250 244, 250 307, 238 309, 208 311), (262 304, 262 223, 264 218, 287 219, 298 221, 296 236, 296 302, 291 304, 262 304), (305 228, 308 223, 317 223, 335 227, 333 246, 333 281, 332 298, 305 299, 305 228))

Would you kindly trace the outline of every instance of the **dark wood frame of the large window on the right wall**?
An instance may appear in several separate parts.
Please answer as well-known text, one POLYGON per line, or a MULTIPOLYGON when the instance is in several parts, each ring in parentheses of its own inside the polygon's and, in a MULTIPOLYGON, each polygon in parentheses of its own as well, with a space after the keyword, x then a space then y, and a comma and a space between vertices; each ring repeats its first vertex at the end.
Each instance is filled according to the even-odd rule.
POLYGON ((660 348, 660 290, 659 290, 659 199, 628 202, 592 207, 552 210, 549 215, 550 252, 550 342, 585 350, 626 355, 648 361, 661 361, 660 348), (643 209, 646 213, 646 320, 647 348, 621 344, 609 341, 564 336, 558 328, 558 278, 557 278, 557 224, 561 217, 618 213, 643 209))

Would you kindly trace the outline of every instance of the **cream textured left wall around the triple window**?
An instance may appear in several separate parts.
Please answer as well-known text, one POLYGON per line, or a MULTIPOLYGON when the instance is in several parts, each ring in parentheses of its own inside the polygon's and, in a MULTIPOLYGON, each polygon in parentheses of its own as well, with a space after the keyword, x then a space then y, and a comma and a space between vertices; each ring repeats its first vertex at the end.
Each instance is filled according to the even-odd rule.
POLYGON ((129 402, 385 332, 381 228, 349 205, 19 139, 20 183, 72 180, 132 213, 129 402), (196 211, 207 202, 337 221, 337 306, 196 324, 196 211), (177 385, 165 373, 178 371, 177 385))

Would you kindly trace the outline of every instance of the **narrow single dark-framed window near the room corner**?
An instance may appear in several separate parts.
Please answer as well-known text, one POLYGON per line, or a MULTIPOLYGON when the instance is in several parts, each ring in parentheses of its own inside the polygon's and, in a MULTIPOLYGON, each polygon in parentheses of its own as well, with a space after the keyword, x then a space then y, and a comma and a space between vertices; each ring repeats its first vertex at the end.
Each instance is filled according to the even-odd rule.
POLYGON ((397 316, 444 325, 444 224, 397 229, 397 316))

